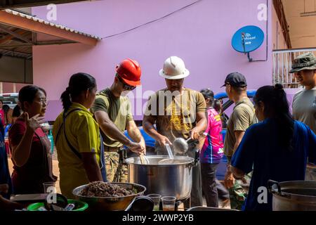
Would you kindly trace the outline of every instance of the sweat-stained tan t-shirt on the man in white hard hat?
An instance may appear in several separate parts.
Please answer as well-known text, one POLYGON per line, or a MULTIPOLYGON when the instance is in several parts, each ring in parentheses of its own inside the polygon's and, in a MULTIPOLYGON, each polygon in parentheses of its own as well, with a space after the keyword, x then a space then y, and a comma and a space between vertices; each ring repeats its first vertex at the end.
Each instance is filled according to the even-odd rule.
POLYGON ((145 112, 156 122, 158 133, 171 142, 178 137, 188 139, 197 124, 197 113, 206 112, 204 97, 198 91, 185 89, 182 95, 173 94, 167 89, 157 91, 150 96, 145 112))

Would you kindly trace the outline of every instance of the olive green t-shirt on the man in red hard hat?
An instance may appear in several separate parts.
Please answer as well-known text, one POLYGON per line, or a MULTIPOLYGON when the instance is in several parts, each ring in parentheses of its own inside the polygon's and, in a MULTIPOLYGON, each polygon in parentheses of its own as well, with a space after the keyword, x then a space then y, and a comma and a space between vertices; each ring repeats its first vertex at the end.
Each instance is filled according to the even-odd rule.
MULTIPOLYGON (((98 111, 103 111, 109 115, 110 120, 117 126, 120 131, 126 130, 126 124, 133 120, 133 115, 131 114, 131 102, 126 96, 115 97, 109 88, 100 91, 96 95, 96 101, 94 101, 91 107, 91 113, 96 113, 98 111)), ((105 135, 101 130, 103 137, 103 143, 105 146, 112 148, 117 148, 123 146, 122 143, 111 139, 109 136, 105 135)))

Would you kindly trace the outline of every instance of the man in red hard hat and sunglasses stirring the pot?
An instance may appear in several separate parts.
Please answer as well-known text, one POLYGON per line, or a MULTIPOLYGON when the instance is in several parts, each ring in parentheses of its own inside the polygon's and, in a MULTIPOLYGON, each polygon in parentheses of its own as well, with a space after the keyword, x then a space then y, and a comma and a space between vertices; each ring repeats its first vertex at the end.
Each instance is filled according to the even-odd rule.
POLYGON ((108 182, 127 182, 123 146, 134 153, 145 153, 145 140, 133 120, 129 98, 124 96, 140 85, 140 76, 140 65, 136 60, 128 58, 121 61, 117 65, 112 86, 97 94, 91 108, 103 136, 108 182), (133 141, 124 135, 125 130, 133 141))

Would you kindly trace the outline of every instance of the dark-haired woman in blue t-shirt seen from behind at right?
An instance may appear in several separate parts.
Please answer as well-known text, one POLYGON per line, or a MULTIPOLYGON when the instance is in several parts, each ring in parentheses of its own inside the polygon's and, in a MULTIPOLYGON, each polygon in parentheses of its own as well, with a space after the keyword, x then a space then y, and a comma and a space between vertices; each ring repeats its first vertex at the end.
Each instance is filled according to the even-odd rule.
POLYGON ((254 103, 261 122, 246 130, 232 157, 231 169, 237 179, 253 171, 243 210, 272 210, 268 191, 268 202, 258 202, 263 193, 260 190, 267 188, 269 179, 303 181, 307 158, 316 162, 316 135, 307 125, 292 119, 281 84, 258 89, 254 103))

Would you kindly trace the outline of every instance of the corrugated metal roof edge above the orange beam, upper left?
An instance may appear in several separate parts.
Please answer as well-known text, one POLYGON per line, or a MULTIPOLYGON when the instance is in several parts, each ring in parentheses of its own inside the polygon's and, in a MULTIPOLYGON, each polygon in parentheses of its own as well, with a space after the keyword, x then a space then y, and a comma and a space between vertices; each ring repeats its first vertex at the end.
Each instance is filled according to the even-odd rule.
POLYGON ((84 35, 84 36, 86 36, 86 37, 91 37, 91 38, 93 38, 93 39, 98 39, 98 40, 101 39, 100 37, 97 37, 96 35, 86 34, 86 33, 84 33, 84 32, 79 32, 78 30, 74 30, 74 29, 72 29, 72 28, 70 28, 70 27, 65 27, 65 26, 62 26, 62 25, 58 25, 58 24, 55 24, 55 23, 51 23, 51 22, 48 22, 48 21, 46 21, 46 20, 42 20, 42 19, 36 18, 36 17, 34 17, 34 16, 32 16, 32 15, 27 15, 27 14, 25 14, 25 13, 20 13, 20 12, 17 12, 17 11, 13 11, 13 10, 11 10, 11 9, 5 9, 5 10, 3 10, 3 11, 5 11, 6 13, 10 13, 10 14, 12 14, 12 15, 20 16, 20 17, 22 17, 22 18, 27 18, 28 20, 34 20, 35 22, 38 22, 38 23, 43 23, 43 24, 45 24, 45 25, 51 25, 52 27, 57 27, 57 28, 59 28, 59 29, 61 29, 61 30, 66 30, 66 31, 68 31, 68 32, 73 32, 73 33, 75 33, 75 34, 81 34, 81 35, 84 35))

